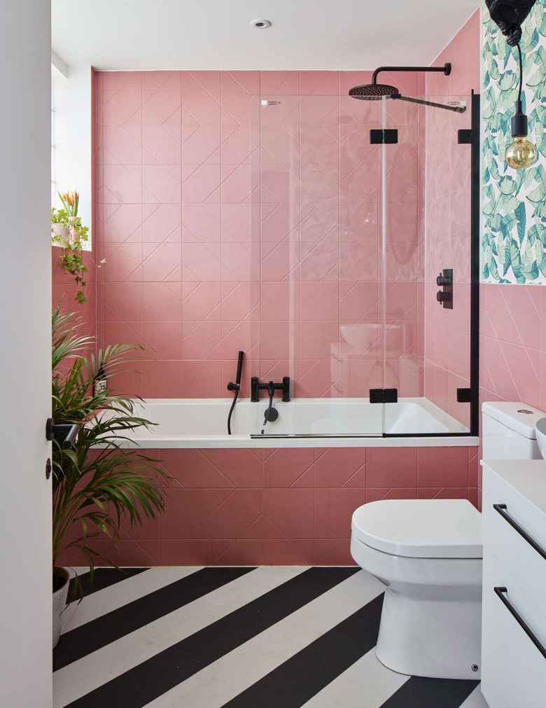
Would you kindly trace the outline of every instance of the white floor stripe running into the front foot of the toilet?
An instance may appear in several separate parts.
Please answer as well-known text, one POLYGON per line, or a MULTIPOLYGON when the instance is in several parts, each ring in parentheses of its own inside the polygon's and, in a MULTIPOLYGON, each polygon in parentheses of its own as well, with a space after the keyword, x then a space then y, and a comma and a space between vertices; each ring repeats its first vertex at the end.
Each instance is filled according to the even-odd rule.
POLYGON ((409 676, 383 666, 372 649, 311 698, 305 708, 380 708, 407 680, 409 676))

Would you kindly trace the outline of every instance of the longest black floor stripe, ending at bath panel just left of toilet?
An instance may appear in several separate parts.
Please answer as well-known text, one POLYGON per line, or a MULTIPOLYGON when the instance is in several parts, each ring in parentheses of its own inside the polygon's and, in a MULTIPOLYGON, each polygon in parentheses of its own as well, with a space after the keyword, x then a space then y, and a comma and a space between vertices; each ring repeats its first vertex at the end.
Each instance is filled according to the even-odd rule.
POLYGON ((69 705, 142 708, 359 570, 310 568, 69 705))

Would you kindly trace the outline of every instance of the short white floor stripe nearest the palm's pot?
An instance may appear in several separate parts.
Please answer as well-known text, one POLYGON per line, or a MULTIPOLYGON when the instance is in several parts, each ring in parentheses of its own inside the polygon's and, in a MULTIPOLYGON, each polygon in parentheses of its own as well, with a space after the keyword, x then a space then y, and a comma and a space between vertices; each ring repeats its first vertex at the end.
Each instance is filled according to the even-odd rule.
POLYGON ((97 619, 106 612, 117 610, 118 607, 128 605, 133 600, 153 593, 169 583, 174 583, 181 578, 191 575, 200 568, 151 568, 136 576, 115 583, 114 585, 98 590, 83 598, 81 603, 71 603, 62 613, 62 631, 81 627, 86 622, 97 619))

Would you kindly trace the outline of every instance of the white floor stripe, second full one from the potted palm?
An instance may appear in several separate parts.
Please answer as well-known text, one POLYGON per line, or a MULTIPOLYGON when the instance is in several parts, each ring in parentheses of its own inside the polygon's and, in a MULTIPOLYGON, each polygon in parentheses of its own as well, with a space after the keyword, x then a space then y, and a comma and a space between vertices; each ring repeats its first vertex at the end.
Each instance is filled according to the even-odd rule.
MULTIPOLYGON (((180 610, 170 612, 156 622, 64 666, 53 675, 54 708, 66 706, 305 570, 307 568, 301 566, 258 568, 180 607, 180 610)), ((87 599, 90 598, 91 595, 87 599)))

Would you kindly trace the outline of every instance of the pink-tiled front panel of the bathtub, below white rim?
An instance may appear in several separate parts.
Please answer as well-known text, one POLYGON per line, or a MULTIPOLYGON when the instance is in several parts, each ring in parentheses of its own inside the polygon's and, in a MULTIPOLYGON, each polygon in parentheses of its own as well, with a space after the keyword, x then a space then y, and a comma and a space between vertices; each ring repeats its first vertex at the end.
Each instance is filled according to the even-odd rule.
MULTIPOLYGON (((382 498, 477 501, 475 447, 148 450, 165 513, 124 527, 120 565, 352 564, 351 516, 382 498)), ((105 550, 105 542, 100 542, 105 550)), ((67 552, 62 564, 81 564, 67 552)))

